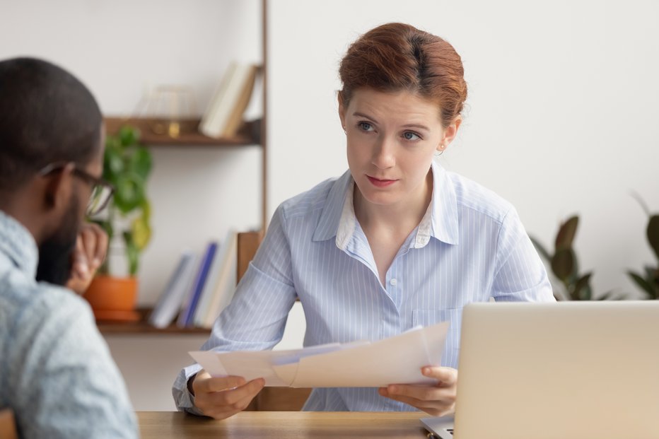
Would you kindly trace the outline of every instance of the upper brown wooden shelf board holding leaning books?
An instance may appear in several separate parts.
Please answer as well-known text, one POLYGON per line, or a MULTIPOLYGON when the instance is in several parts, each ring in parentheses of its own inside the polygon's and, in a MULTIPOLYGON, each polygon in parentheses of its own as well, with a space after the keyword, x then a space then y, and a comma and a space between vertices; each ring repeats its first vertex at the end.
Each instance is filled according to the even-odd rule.
POLYGON ((115 134, 122 125, 131 125, 141 132, 141 142, 148 146, 246 146, 258 145, 260 121, 246 122, 238 134, 233 137, 214 138, 204 136, 199 132, 200 119, 182 119, 178 121, 178 135, 167 134, 167 123, 153 118, 105 117, 105 129, 109 134, 115 134))

